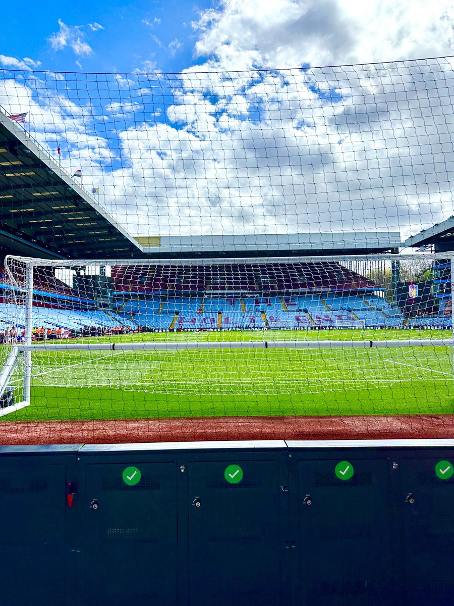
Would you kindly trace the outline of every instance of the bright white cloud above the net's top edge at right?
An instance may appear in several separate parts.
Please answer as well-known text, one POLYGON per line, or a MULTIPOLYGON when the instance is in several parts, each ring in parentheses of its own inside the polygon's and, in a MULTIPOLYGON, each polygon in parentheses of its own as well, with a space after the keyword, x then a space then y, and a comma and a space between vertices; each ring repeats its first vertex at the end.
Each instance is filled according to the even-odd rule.
POLYGON ((222 0, 193 23, 206 68, 295 67, 449 55, 446 0, 222 0))

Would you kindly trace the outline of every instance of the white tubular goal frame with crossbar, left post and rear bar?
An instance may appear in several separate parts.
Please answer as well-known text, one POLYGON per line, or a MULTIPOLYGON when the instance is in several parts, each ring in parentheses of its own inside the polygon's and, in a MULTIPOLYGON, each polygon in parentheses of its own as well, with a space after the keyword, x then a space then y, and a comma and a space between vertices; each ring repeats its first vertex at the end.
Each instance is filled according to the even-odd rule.
MULTIPOLYGON (((270 264, 270 263, 314 263, 314 262, 339 262, 349 263, 354 261, 436 261, 437 259, 447 259, 450 262, 451 276, 454 276, 454 256, 453 253, 427 254, 418 253, 417 255, 345 255, 345 256, 298 256, 298 257, 262 257, 262 258, 205 258, 205 259, 35 259, 22 256, 8 255, 5 258, 5 273, 8 275, 10 285, 16 291, 21 291, 22 298, 25 299, 25 335, 23 342, 17 342, 12 345, 7 361, 0 370, 0 396, 7 388, 15 365, 22 356, 24 363, 24 374, 22 384, 22 398, 17 404, 0 408, 0 416, 7 415, 16 410, 20 410, 30 405, 31 388, 31 359, 34 351, 176 351, 176 350, 251 350, 251 349, 336 349, 336 348, 403 348, 403 347, 450 347, 453 348, 453 378, 454 378, 454 305, 452 305, 452 337, 444 339, 421 338, 421 339, 363 339, 363 340, 322 340, 312 339, 308 341, 206 341, 206 342, 137 342, 137 343, 89 343, 82 344, 78 342, 58 342, 58 343, 33 343, 33 270, 35 267, 46 268, 74 268, 80 266, 94 265, 121 265, 121 266, 141 266, 141 265, 231 265, 231 264, 270 264), (25 284, 18 284, 15 281, 10 265, 12 262, 25 265, 25 284)), ((454 300, 454 280, 451 281, 451 297, 454 300)), ((264 329, 266 330, 266 329, 264 329)), ((366 329, 367 330, 367 329, 366 329)))

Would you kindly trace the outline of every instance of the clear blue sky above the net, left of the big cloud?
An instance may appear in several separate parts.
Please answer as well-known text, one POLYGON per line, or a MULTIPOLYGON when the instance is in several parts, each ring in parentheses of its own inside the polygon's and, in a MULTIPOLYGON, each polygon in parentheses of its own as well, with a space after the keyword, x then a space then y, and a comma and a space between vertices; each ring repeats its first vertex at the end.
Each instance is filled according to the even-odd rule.
POLYGON ((191 22, 210 6, 211 0, 25 0, 18 10, 13 2, 5 3, 0 54, 40 61, 45 70, 133 72, 156 65, 160 71, 179 72, 193 61, 191 22), (56 48, 51 41, 62 28, 67 44, 56 48), (82 45, 74 50, 71 39, 82 45))

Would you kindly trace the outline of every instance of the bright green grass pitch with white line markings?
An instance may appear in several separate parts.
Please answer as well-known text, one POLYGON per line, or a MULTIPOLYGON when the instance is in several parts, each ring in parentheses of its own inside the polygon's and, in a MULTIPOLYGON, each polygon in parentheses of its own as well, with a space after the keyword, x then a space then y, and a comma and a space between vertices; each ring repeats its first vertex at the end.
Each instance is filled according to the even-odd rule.
MULTIPOLYGON (((435 330, 268 330, 156 333, 106 337, 104 342, 450 336, 450 331, 435 330)), ((63 351, 33 353, 31 405, 1 420, 453 411, 453 351, 448 347, 63 351)))

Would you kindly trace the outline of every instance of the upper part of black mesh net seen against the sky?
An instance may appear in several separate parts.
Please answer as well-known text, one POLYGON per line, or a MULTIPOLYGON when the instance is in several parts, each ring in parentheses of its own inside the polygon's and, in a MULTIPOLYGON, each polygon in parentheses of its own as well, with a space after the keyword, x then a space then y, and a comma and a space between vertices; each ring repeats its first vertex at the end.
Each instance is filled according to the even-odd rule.
MULTIPOLYGON (((0 105, 5 115, 26 114, 16 124, 145 243, 388 229, 407 237, 452 214, 453 61, 180 74, 1 70, 0 105)), ((17 171, 11 165, 10 178, 17 171)), ((39 215, 40 197, 33 202, 39 215)), ((72 236, 77 230, 66 235, 77 244, 72 236)))

